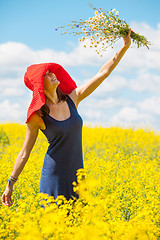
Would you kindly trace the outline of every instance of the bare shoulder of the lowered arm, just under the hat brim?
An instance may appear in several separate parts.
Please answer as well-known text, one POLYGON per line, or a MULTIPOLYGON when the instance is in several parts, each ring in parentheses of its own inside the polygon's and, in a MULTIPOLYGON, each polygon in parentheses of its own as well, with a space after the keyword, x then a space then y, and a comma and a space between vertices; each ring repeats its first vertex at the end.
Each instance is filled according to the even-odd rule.
POLYGON ((27 122, 27 125, 32 129, 37 128, 37 129, 45 130, 46 128, 43 119, 37 113, 34 113, 30 117, 29 121, 27 122))

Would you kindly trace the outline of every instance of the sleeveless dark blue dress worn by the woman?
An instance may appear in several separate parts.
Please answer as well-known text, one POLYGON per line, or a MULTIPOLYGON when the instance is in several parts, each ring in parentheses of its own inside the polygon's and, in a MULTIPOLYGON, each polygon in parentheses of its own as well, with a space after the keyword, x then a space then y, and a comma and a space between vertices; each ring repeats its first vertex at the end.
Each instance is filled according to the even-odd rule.
POLYGON ((70 109, 68 119, 58 121, 49 115, 42 117, 46 125, 42 132, 47 137, 49 147, 43 163, 40 192, 55 199, 58 195, 64 195, 69 200, 72 196, 79 197, 73 191, 72 182, 77 182, 76 172, 83 168, 83 121, 69 96, 67 103, 70 109))

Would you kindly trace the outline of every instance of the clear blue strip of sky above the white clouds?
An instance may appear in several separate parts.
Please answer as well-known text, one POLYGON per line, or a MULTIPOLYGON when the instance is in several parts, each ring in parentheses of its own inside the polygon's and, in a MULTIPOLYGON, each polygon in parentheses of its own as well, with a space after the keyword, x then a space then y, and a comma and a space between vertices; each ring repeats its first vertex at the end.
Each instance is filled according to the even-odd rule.
MULTIPOLYGON (((91 2, 97 8, 116 8, 120 16, 131 22, 146 22, 156 27, 159 22, 160 1, 158 0, 97 0, 97 1, 53 1, 53 0, 1 0, 0 42, 18 41, 33 49, 65 49, 65 38, 54 31, 57 26, 70 23, 73 19, 86 19, 93 15, 91 2)), ((76 41, 73 38, 72 41, 76 41)))

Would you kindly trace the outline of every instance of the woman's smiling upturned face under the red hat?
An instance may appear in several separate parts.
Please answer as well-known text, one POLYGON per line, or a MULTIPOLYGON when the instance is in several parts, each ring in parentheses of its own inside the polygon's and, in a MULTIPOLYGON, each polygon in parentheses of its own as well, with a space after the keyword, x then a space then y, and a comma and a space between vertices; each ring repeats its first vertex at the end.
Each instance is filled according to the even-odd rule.
POLYGON ((60 82, 57 80, 57 77, 54 73, 51 73, 49 70, 43 76, 44 88, 46 90, 51 90, 53 88, 57 88, 60 82))

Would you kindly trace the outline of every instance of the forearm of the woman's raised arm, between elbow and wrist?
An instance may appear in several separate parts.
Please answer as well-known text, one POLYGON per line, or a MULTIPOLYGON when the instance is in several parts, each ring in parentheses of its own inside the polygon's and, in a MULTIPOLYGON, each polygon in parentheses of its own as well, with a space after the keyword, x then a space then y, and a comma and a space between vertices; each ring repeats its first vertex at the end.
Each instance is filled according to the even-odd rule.
POLYGON ((105 78, 110 75, 110 73, 113 71, 113 69, 117 66, 117 64, 122 59, 123 55, 129 48, 129 45, 124 45, 113 58, 111 58, 107 63, 105 63, 102 68, 100 69, 100 72, 103 72, 105 74, 105 78))

